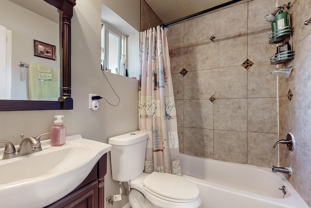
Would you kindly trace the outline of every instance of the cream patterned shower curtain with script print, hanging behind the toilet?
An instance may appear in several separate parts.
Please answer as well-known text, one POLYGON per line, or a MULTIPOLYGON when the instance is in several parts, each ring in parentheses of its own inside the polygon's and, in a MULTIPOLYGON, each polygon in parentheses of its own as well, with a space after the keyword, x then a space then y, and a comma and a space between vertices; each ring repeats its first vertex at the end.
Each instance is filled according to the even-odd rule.
POLYGON ((140 32, 138 121, 147 132, 145 169, 180 175, 176 109, 167 28, 140 32))

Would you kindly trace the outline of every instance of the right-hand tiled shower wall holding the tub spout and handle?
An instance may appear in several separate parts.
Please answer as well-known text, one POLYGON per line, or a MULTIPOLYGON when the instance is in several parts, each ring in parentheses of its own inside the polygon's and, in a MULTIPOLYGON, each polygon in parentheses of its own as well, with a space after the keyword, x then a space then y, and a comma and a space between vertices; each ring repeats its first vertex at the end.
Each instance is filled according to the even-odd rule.
MULTIPOLYGON (((288 1, 280 1, 288 3, 288 1)), ((311 17, 309 0, 291 0, 291 20, 294 27, 294 71, 288 79, 279 78, 279 135, 294 134, 296 149, 290 154, 285 145, 279 145, 280 166, 293 166, 289 181, 311 206, 311 25, 304 22, 311 17), (291 101, 287 95, 293 94, 291 101)))

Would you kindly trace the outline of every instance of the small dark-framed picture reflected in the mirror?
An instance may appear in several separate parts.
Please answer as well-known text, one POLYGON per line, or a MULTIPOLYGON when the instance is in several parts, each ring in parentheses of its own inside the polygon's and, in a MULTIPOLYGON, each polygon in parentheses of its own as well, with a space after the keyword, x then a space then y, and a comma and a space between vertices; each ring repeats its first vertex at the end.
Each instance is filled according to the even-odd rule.
POLYGON ((55 46, 34 40, 34 56, 55 60, 55 46))

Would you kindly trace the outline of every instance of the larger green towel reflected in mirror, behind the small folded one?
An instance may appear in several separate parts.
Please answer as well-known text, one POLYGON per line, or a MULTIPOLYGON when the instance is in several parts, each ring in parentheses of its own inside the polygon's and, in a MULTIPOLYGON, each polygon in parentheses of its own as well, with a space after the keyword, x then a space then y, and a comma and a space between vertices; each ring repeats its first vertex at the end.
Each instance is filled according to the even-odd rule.
MULTIPOLYGON (((42 71, 42 73, 44 72, 42 71)), ((60 95, 59 69, 51 68, 50 74, 52 75, 52 79, 39 79, 37 65, 29 65, 28 85, 30 100, 58 100, 60 95)))

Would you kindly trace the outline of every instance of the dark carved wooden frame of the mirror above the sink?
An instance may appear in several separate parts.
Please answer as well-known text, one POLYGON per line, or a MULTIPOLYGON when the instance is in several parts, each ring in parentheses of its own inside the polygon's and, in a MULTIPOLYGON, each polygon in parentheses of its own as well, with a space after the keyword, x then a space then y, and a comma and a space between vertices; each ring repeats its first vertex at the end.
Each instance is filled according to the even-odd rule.
POLYGON ((71 110, 71 18, 76 0, 44 0, 61 11, 61 101, 0 100, 0 111, 71 110))

